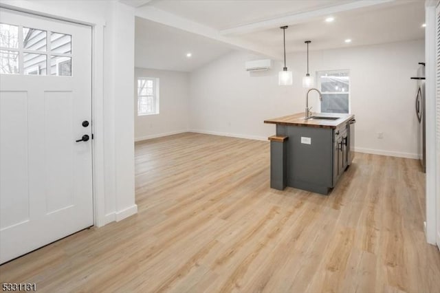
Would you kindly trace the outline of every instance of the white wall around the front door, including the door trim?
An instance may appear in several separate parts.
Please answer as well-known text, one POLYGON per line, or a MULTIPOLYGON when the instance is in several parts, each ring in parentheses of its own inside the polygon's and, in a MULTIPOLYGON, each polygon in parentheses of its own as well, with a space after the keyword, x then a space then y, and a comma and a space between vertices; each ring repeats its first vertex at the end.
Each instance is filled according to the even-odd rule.
POLYGON ((137 213, 131 98, 134 8, 119 1, 2 0, 1 4, 47 17, 87 23, 94 28, 95 224, 102 226, 137 213))

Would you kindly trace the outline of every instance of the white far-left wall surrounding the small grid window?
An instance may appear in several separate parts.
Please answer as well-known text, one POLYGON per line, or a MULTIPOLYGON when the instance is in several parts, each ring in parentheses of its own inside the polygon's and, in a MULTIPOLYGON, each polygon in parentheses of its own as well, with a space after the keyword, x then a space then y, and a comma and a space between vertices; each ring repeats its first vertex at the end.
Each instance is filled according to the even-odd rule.
POLYGON ((146 140, 187 131, 190 88, 188 72, 136 67, 135 88, 137 78, 140 77, 159 78, 159 114, 137 116, 137 93, 135 91, 135 140, 146 140))

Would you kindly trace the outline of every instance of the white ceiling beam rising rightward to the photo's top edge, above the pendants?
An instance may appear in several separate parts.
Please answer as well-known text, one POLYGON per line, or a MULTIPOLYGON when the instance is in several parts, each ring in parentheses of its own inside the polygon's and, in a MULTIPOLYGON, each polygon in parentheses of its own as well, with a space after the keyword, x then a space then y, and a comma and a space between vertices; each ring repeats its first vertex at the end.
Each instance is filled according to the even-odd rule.
POLYGON ((278 28, 282 25, 294 25, 297 23, 305 23, 311 19, 317 17, 327 17, 331 14, 338 12, 344 12, 349 10, 355 10, 359 8, 366 8, 369 6, 380 5, 384 3, 395 2, 395 0, 369 0, 369 1, 353 1, 350 3, 344 3, 338 6, 331 6, 327 8, 321 8, 318 10, 311 10, 307 12, 300 12, 296 14, 287 15, 285 17, 277 17, 275 19, 268 19, 265 21, 258 21, 255 23, 248 23, 245 25, 239 25, 235 28, 229 28, 227 30, 221 30, 220 34, 223 36, 246 34, 250 32, 257 32, 260 30, 267 30, 271 28, 278 28))

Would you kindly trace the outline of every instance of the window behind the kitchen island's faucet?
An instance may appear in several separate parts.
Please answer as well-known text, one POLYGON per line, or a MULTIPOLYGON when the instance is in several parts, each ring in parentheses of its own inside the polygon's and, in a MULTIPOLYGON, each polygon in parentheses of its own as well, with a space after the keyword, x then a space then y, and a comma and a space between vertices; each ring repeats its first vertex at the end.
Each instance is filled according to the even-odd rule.
POLYGON ((318 72, 318 88, 322 93, 322 113, 349 113, 349 70, 318 72))

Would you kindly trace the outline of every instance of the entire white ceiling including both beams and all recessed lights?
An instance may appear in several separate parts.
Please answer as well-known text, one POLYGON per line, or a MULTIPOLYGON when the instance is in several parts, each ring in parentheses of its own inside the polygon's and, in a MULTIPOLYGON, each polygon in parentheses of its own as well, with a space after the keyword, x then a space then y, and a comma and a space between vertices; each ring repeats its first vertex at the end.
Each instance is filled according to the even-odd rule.
POLYGON ((327 50, 424 38, 421 0, 152 0, 137 4, 138 67, 192 71, 232 49, 281 60, 280 25, 289 25, 287 52, 305 52, 305 40, 312 41, 310 50, 327 50), (335 21, 325 23, 327 16, 335 21), (347 38, 352 43, 344 43, 347 38), (186 58, 186 52, 192 52, 192 58, 186 58))

